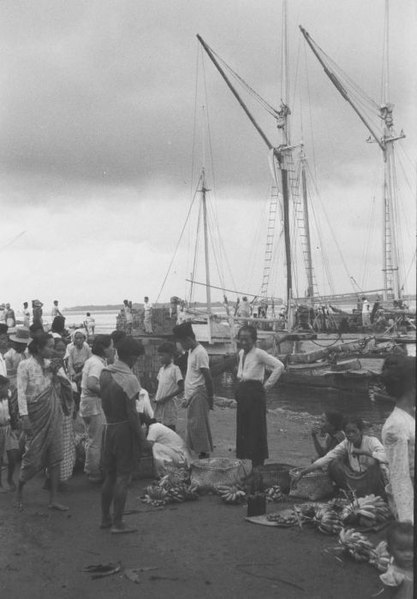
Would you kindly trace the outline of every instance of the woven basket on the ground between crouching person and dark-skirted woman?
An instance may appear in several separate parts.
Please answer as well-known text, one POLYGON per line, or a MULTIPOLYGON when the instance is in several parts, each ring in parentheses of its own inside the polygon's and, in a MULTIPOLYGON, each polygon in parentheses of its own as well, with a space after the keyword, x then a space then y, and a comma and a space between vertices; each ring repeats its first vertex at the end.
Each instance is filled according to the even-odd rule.
POLYGON ((251 466, 241 460, 208 458, 191 463, 191 484, 200 492, 215 491, 218 485, 241 484, 250 474, 251 466))

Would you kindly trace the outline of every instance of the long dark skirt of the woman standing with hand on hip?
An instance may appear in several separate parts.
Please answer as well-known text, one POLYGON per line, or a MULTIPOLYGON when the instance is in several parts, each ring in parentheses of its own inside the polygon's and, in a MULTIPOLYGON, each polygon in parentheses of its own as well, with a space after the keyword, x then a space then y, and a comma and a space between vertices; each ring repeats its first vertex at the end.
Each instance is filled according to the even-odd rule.
POLYGON ((266 399, 260 381, 242 381, 236 389, 236 457, 255 465, 268 458, 266 399))

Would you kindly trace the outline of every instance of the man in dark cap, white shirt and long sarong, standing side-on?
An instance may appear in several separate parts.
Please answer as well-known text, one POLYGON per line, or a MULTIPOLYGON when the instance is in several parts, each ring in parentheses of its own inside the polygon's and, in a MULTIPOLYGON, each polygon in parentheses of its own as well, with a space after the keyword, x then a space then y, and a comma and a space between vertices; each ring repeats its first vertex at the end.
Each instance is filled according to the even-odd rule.
POLYGON ((200 459, 208 458, 213 451, 209 410, 213 409, 213 381, 209 357, 195 338, 190 322, 173 329, 184 350, 188 350, 187 374, 184 394, 187 407, 187 445, 200 459))

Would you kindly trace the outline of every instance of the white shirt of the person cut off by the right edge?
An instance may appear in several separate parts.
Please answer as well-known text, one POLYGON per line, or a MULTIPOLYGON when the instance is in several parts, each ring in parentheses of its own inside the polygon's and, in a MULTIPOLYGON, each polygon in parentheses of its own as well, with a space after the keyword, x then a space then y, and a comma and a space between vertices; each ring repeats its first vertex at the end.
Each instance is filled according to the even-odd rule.
POLYGON ((400 521, 414 521, 414 448, 416 421, 395 407, 382 428, 389 465, 389 488, 400 521))

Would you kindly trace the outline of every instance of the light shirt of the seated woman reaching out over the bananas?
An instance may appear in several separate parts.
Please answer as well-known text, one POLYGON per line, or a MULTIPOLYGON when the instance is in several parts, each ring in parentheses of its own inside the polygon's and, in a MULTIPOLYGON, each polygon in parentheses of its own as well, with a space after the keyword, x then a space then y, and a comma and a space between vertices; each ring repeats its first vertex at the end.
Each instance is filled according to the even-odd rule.
POLYGON ((374 460, 377 460, 380 464, 386 464, 387 458, 384 451, 384 446, 376 437, 368 437, 363 435, 360 447, 354 447, 353 443, 345 439, 339 445, 336 445, 334 449, 331 449, 325 456, 319 458, 314 462, 315 466, 328 466, 330 462, 337 458, 347 457, 349 466, 354 472, 365 472, 369 467, 369 457, 364 455, 353 455, 354 449, 359 451, 367 451, 371 454, 374 460))

